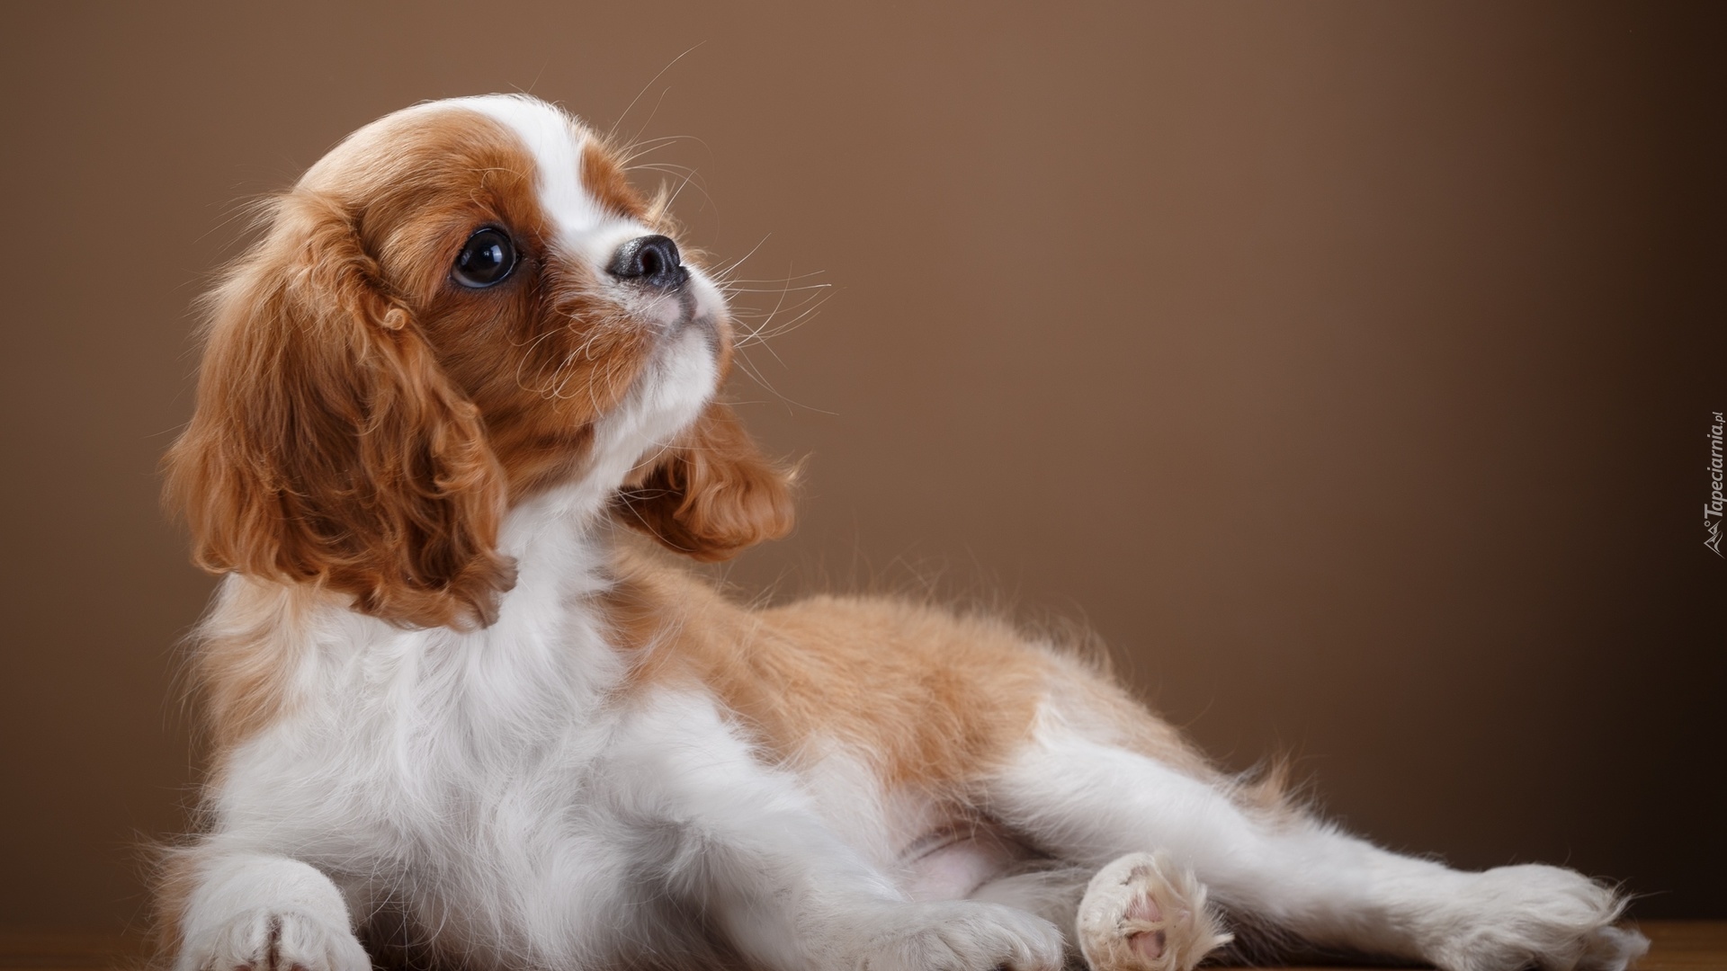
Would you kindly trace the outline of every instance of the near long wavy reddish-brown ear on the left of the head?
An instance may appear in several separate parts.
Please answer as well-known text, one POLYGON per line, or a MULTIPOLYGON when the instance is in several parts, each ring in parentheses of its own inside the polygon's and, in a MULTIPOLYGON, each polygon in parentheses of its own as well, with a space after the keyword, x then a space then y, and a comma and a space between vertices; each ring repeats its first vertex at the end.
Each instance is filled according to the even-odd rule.
POLYGON ((490 624, 515 584, 503 470, 351 216, 283 197, 207 311, 197 411, 166 460, 195 562, 323 584, 404 627, 490 624))

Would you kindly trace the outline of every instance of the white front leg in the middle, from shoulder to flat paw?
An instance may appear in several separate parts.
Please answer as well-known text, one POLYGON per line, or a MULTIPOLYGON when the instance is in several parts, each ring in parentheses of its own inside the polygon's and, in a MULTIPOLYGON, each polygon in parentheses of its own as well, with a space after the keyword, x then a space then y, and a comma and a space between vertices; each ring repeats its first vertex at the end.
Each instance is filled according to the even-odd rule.
POLYGON ((699 695, 632 715, 608 758, 623 817, 656 835, 674 895, 756 964, 779 969, 1055 971, 1060 931, 979 900, 908 900, 831 831, 796 777, 699 695))

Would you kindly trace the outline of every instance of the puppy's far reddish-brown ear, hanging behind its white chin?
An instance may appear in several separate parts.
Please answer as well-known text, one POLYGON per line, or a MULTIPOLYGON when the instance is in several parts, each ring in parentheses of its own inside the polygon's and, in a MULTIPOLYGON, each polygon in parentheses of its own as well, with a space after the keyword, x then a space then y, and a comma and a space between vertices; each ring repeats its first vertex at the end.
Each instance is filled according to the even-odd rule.
POLYGON ((706 411, 613 503, 625 524, 703 562, 791 532, 794 470, 770 461, 725 404, 706 411))

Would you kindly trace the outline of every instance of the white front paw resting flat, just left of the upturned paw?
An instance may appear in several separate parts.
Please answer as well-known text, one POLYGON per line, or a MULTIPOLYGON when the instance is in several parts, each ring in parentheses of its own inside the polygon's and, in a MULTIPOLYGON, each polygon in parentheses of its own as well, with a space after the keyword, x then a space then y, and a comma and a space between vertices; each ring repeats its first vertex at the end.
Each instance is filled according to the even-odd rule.
POLYGON ((848 964, 867 971, 1059 971, 1055 924, 1000 904, 901 904, 870 921, 848 964))

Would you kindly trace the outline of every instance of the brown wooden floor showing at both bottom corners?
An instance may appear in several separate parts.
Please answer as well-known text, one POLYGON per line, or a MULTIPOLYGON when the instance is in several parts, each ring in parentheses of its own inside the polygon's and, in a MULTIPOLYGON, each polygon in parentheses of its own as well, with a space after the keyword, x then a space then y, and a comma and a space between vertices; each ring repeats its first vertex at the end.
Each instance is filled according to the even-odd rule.
MULTIPOLYGON (((1653 942, 1639 971, 1727 971, 1727 921, 1644 921, 1639 928, 1653 942)), ((145 955, 142 942, 123 936, 0 930, 0 968, 9 971, 136 971, 145 955)))

